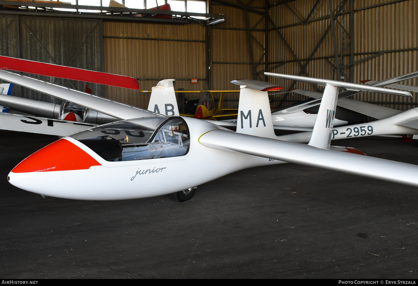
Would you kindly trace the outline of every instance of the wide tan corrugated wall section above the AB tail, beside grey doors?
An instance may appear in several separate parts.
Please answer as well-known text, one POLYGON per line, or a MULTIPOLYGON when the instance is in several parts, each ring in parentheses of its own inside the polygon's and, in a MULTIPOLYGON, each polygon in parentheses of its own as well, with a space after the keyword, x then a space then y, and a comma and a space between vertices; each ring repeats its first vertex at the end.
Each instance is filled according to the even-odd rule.
MULTIPOLYGON (((206 89, 205 28, 199 23, 103 22, 103 42, 104 71, 135 77, 142 90, 150 90, 161 79, 176 79, 176 89, 206 89)), ((104 90, 113 100, 148 107, 150 93, 119 87, 104 90)), ((186 97, 195 99, 199 94, 186 97)))

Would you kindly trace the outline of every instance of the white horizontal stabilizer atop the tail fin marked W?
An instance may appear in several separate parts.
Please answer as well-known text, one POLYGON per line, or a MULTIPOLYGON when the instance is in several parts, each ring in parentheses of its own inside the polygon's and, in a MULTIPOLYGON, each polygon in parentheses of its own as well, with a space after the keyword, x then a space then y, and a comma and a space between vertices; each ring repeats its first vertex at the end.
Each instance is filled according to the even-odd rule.
POLYGON ((351 82, 340 82, 337 80, 331 80, 331 79, 317 79, 314 77, 301 77, 301 76, 295 76, 295 75, 289 75, 289 74, 275 74, 272 72, 265 72, 266 76, 269 77, 277 77, 282 79, 292 79, 297 80, 300 82, 311 82, 314 84, 331 84, 334 87, 344 87, 346 89, 350 90, 357 90, 357 91, 369 91, 369 92, 380 92, 385 94, 393 94, 393 95, 401 95, 401 96, 407 96, 412 97, 412 94, 410 92, 401 91, 401 90, 395 90, 395 89, 387 89, 382 87, 374 87, 374 86, 366 86, 364 84, 354 84, 351 82))

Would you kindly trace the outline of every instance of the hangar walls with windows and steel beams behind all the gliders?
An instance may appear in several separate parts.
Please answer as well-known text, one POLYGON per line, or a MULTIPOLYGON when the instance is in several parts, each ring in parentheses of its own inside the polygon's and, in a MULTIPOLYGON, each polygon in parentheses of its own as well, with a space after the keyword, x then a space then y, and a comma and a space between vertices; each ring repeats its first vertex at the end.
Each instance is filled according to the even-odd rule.
MULTIPOLYGON (((81 6, 86 4, 105 6, 105 1, 73 2, 81 8, 86 8, 81 6)), ((163 4, 160 2, 123 3, 142 9, 163 4)), ((0 15, 0 51, 3 56, 134 77, 141 90, 150 90, 167 78, 176 79, 178 90, 199 91, 236 89, 230 83, 233 79, 270 81, 284 87, 280 94, 270 92, 270 100, 276 107, 308 98, 288 92, 289 89, 321 91, 323 87, 269 79, 263 75, 264 71, 359 83, 418 69, 416 1, 247 2, 201 2, 199 12, 208 15, 193 18, 186 15, 186 6, 196 1, 171 1, 177 5, 173 7, 179 7, 186 15, 173 19, 135 17, 135 13, 123 13, 120 10, 123 8, 118 7, 106 8, 115 10, 112 13, 90 13, 94 10, 62 11, 71 9, 59 8, 66 7, 61 3, 54 4, 52 9, 47 9, 45 3, 20 9, 4 5, 0 15), (192 84, 191 79, 197 79, 197 83, 192 84)), ((37 77, 84 90, 84 83, 37 77)), ((418 82, 415 78, 404 84, 416 86, 418 82)), ((149 92, 89 85, 93 94, 138 107, 148 106, 149 92)), ((60 102, 23 87, 14 89, 13 95, 60 102)), ((178 94, 179 106, 199 95, 178 94)), ((227 94, 227 106, 236 106, 238 97, 238 93, 227 94)), ((413 98, 365 92, 354 99, 398 110, 408 110, 418 100, 416 92, 413 98)))

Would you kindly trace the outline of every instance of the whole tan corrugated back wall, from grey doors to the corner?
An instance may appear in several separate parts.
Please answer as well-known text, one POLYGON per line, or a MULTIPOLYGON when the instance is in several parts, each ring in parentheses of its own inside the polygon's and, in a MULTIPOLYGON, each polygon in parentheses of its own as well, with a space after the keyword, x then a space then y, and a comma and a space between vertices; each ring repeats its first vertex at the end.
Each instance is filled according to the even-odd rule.
MULTIPOLYGON (((263 1, 256 1, 262 3, 263 1)), ((256 3, 260 5, 259 3, 256 3)), ((256 5, 254 4, 254 5, 256 5)), ((233 79, 252 78, 252 65, 244 11, 212 5, 210 13, 225 14, 225 22, 211 28, 211 89, 237 89, 233 79)), ((252 29, 264 29, 262 15, 248 13, 252 29), (257 24, 257 25, 256 25, 257 24)), ((264 43, 263 31, 251 31, 264 43)), ((173 78, 176 89, 206 89, 206 28, 199 23, 168 25, 155 23, 103 22, 104 71, 138 79, 140 89, 150 90, 158 80, 173 78), (191 84, 197 78, 198 84, 191 84)), ((264 64, 263 48, 252 39, 254 58, 264 64)), ((150 93, 105 87, 105 96, 147 108, 150 93)), ((189 100, 200 94, 186 94, 189 100)), ((225 94, 238 100, 238 94, 225 94)), ((225 103, 232 107, 237 102, 225 103)))

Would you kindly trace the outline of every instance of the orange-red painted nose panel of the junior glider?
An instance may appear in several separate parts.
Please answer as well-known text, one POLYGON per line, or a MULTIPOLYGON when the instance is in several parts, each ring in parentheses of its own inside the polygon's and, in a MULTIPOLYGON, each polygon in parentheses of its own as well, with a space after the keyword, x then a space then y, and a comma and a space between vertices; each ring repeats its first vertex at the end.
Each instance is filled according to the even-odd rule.
POLYGON ((89 169, 101 165, 92 156, 66 139, 43 147, 16 166, 13 173, 89 169))

